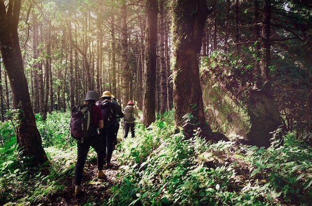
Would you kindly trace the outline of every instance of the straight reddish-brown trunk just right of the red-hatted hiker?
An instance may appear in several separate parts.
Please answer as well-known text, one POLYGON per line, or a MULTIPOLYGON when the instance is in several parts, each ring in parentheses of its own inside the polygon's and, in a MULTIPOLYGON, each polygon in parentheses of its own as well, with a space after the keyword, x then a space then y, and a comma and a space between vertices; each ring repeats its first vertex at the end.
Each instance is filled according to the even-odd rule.
POLYGON ((146 6, 143 122, 150 125, 155 121, 157 0, 147 0, 146 6))

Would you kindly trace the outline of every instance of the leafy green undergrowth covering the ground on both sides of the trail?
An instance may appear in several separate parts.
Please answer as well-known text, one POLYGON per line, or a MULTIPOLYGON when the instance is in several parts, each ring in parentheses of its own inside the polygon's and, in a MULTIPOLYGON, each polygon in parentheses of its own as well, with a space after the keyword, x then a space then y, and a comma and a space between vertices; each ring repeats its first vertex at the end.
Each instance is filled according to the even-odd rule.
MULTIPOLYGON (((12 124, 1 124, 0 205, 44 205, 61 195, 74 175, 77 150, 68 138, 69 114, 52 113, 45 121, 36 117, 49 166, 33 168, 21 156, 12 124)), ((114 155, 121 166, 113 195, 103 199, 106 206, 312 204, 312 149, 292 133, 284 136, 284 145, 273 141, 267 149, 185 140, 170 111, 148 128, 137 124, 136 138, 120 142, 114 155)))

